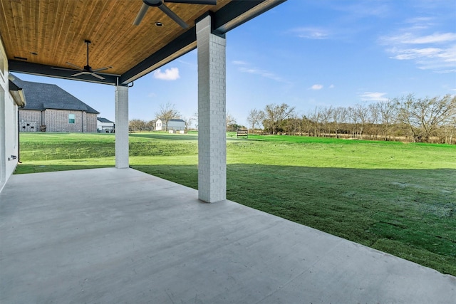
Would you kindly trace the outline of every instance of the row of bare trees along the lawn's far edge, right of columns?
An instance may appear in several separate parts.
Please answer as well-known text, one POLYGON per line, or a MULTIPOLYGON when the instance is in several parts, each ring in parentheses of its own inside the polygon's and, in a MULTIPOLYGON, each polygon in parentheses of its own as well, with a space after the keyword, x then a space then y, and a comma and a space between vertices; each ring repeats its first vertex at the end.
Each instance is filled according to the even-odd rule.
POLYGON ((265 134, 350 137, 364 140, 456 142, 456 96, 401 98, 353 107, 317 107, 299 116, 294 107, 250 110, 249 129, 265 134))

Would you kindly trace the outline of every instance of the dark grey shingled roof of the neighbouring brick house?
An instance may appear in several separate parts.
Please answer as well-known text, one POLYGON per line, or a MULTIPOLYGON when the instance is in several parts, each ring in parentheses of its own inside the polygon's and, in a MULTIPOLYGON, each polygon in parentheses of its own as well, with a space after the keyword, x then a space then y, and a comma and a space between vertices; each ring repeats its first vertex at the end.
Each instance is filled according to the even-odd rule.
POLYGON ((13 82, 23 88, 27 98, 27 105, 24 110, 76 110, 88 113, 99 114, 97 110, 83 103, 78 98, 66 92, 58 85, 47 83, 32 83, 24 81, 14 75, 13 82))

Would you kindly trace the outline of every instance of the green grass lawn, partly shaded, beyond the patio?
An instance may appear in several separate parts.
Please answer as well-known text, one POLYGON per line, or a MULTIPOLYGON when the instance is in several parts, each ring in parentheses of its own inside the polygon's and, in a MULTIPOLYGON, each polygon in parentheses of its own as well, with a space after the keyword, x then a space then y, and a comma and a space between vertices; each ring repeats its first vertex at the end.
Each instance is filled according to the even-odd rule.
MULTIPOLYGON (((456 276, 456 146, 227 139, 227 198, 456 276)), ((112 167, 110 134, 21 134, 16 173, 112 167)), ((197 188, 197 135, 130 135, 130 165, 197 188)))

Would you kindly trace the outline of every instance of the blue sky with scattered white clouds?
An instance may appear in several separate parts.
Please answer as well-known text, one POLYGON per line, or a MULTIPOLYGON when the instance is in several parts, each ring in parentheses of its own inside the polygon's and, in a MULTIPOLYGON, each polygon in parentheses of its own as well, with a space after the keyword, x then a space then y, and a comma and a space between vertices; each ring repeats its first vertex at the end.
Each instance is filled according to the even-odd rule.
MULTIPOLYGON (((114 87, 18 74, 54 83, 114 120, 114 87)), ((413 93, 456 94, 454 0, 288 0, 227 33, 227 112, 247 125, 249 110, 286 103, 368 105, 413 93)), ((171 103, 197 112, 197 52, 135 81, 130 119, 153 120, 171 103)))

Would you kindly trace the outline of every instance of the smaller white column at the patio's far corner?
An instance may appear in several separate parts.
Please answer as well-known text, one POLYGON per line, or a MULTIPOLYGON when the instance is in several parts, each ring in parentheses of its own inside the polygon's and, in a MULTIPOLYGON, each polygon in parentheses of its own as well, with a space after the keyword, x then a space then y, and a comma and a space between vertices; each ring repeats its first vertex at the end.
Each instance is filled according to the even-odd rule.
POLYGON ((128 87, 115 87, 115 167, 128 168, 128 87))

